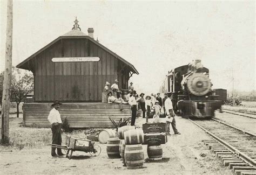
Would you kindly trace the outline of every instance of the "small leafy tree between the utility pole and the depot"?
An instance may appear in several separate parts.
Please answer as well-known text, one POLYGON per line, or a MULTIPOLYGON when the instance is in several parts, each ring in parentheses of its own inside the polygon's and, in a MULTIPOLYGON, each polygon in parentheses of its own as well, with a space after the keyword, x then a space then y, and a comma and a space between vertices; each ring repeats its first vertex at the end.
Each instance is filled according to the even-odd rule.
POLYGON ((17 104, 17 117, 19 117, 19 104, 24 101, 26 95, 33 91, 33 74, 25 71, 21 72, 21 69, 12 67, 12 79, 11 79, 11 99, 17 104))

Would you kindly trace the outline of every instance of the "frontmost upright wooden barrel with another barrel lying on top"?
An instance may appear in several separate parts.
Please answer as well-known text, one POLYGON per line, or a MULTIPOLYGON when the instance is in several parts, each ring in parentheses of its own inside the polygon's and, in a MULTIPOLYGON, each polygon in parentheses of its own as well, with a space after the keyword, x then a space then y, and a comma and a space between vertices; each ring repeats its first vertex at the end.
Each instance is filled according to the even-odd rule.
POLYGON ((124 158, 127 169, 139 169, 144 163, 142 144, 125 145, 124 158))

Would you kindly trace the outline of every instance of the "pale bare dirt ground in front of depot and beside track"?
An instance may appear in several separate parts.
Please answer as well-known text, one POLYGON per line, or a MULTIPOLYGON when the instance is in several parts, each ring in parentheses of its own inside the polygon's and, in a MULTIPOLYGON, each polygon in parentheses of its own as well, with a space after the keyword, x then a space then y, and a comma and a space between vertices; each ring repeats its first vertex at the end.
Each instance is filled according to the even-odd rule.
MULTIPOLYGON (((163 161, 146 162, 142 169, 127 170, 120 159, 108 158, 106 144, 99 144, 102 152, 97 157, 77 151, 71 160, 51 157, 49 146, 22 150, 1 146, 1 150, 12 150, 0 152, 1 174, 232 174, 201 142, 210 137, 184 118, 176 117, 176 121, 181 135, 168 136, 168 142, 162 145, 163 161)), ((136 124, 144 122, 140 118, 136 124)), ((146 159, 146 145, 143 149, 146 159)))

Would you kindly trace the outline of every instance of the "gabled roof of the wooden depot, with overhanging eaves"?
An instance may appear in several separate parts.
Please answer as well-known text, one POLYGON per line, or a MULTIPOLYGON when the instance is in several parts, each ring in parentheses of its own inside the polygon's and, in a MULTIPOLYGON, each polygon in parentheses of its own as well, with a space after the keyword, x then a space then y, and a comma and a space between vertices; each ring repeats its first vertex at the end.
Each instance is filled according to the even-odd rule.
POLYGON ((133 73, 139 74, 139 72, 137 71, 137 69, 130 64, 130 62, 126 61, 125 59, 123 59, 122 57, 120 57, 119 55, 117 55, 116 53, 114 53, 113 51, 109 50, 109 48, 105 47, 104 45, 100 44, 98 41, 94 40, 93 38, 87 36, 85 33, 83 33, 82 31, 78 30, 78 29, 73 29, 65 34, 63 34, 62 36, 56 38, 55 40, 51 41, 51 43, 49 43, 48 45, 44 46, 43 48, 41 48, 41 50, 37 51, 36 53, 32 54, 30 57, 28 57, 27 59, 25 59, 24 61, 22 61, 20 64, 18 64, 16 67, 17 68, 23 68, 23 65, 26 64, 26 62, 28 62, 29 60, 31 60, 32 58, 36 57, 36 55, 38 55, 39 53, 43 52, 46 48, 52 46, 53 44, 55 44, 57 41, 59 41, 60 39, 68 39, 68 38, 86 38, 89 39, 90 41, 92 41, 92 43, 98 45, 99 47, 103 48, 103 50, 109 52, 110 54, 114 55, 114 57, 116 57, 117 59, 119 59, 120 61, 124 62, 126 65, 128 65, 131 68, 131 71, 133 73))

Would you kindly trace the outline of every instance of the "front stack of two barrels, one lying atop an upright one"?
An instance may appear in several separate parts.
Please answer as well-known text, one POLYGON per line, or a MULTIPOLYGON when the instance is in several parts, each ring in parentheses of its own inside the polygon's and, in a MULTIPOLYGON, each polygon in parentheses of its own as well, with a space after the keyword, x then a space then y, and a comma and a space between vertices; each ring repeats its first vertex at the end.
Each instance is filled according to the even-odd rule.
POLYGON ((132 129, 124 132, 124 160, 127 169, 139 169, 143 167, 144 152, 142 143, 144 134, 142 129, 132 129))

